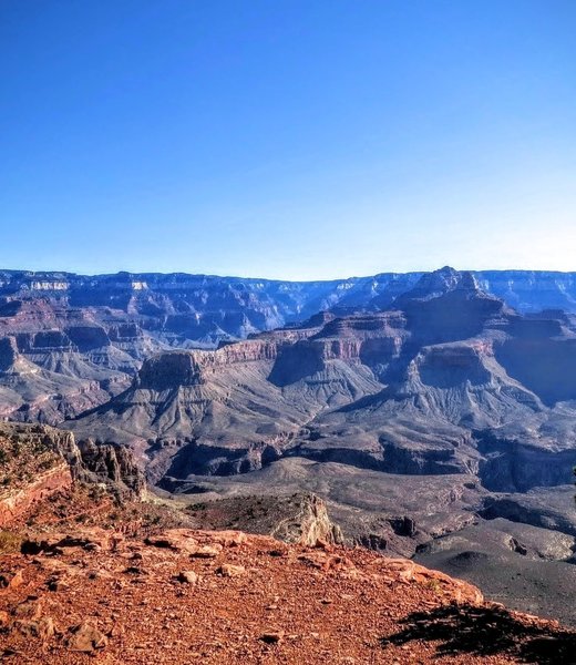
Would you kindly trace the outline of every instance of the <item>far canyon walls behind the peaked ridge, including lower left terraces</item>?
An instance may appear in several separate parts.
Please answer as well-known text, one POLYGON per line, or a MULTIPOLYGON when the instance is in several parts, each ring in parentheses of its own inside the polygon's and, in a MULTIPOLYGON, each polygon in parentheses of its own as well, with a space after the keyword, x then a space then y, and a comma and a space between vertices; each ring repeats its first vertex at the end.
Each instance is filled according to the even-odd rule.
MULTIPOLYGON (((142 361, 161 350, 210 348, 302 321, 319 310, 332 314, 309 327, 326 325, 335 314, 388 309, 420 277, 421 273, 383 273, 289 283, 182 274, 88 277, 3 270, 0 416, 58 424, 122 392, 142 361)), ((425 277, 429 282, 420 288, 430 290, 434 286, 430 280, 439 277, 425 277)), ((576 311, 574 274, 485 272, 474 273, 473 278, 520 311, 576 311)), ((511 357, 515 352, 508 351, 511 357)), ((304 346, 304 352, 307 362, 318 361, 313 347, 304 346)), ((290 367, 286 359, 284 370, 290 367)), ((276 381, 292 379, 277 368, 276 381)))

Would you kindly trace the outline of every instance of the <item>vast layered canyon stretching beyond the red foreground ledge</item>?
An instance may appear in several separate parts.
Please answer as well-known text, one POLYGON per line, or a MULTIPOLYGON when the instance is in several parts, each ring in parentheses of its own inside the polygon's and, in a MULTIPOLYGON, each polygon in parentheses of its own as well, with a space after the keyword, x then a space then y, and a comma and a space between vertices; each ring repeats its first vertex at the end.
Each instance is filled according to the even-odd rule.
POLYGON ((73 434, 109 480, 130 456, 197 528, 269 533, 319 497, 347 546, 572 622, 574 279, 3 272, 1 415, 73 434))

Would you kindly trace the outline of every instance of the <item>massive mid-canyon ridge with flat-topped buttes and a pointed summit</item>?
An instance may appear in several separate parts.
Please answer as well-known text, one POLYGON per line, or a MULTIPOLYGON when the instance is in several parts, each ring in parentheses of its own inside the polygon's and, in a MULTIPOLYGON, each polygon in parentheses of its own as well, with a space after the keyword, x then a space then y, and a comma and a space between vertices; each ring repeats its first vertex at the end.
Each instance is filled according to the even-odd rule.
POLYGON ((524 491, 569 481, 576 462, 576 383, 555 380, 576 362, 575 341, 569 317, 520 315, 443 268, 387 311, 161 352, 68 427, 134 447, 171 488, 301 457, 524 491))

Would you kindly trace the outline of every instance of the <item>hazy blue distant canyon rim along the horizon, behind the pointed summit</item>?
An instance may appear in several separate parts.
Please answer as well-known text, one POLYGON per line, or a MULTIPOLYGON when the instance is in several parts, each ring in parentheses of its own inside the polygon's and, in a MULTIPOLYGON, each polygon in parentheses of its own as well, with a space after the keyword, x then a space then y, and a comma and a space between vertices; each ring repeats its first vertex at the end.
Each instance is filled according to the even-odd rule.
MULTIPOLYGON (((185 315, 194 314, 203 317, 207 326, 198 326, 194 331, 194 326, 184 323, 186 330, 174 331, 184 332, 191 340, 214 342, 226 336, 241 338, 249 332, 304 320, 326 309, 384 309, 422 276, 436 273, 453 278, 459 272, 446 266, 434 273, 390 272, 367 277, 291 282, 186 273, 79 275, 0 270, 0 299, 41 296, 58 298, 69 307, 109 306, 142 316, 177 314, 181 328, 185 315), (214 320, 215 310, 223 309, 228 314, 226 320, 225 317, 214 320)), ((502 298, 521 313, 543 309, 576 313, 576 272, 511 269, 463 270, 460 274, 471 275, 479 288, 502 298)))

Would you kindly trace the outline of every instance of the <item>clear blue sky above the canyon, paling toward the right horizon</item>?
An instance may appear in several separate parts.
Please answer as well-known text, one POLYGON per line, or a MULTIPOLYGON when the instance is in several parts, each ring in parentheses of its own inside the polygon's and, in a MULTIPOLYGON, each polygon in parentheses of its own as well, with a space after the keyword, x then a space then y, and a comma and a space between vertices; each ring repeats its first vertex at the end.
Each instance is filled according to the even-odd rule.
POLYGON ((1 0, 0 267, 576 270, 575 0, 1 0))

